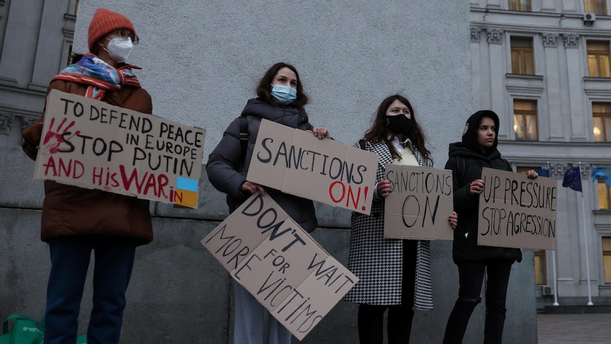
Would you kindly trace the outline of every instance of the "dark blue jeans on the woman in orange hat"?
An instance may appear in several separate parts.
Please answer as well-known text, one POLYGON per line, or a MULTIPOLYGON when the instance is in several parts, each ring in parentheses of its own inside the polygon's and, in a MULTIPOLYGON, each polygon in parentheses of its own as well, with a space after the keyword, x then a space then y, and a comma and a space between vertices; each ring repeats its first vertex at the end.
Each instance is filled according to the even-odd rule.
POLYGON ((93 309, 87 343, 119 343, 125 291, 134 264, 136 238, 68 235, 48 241, 51 272, 47 285, 45 344, 74 344, 91 250, 94 250, 93 309))

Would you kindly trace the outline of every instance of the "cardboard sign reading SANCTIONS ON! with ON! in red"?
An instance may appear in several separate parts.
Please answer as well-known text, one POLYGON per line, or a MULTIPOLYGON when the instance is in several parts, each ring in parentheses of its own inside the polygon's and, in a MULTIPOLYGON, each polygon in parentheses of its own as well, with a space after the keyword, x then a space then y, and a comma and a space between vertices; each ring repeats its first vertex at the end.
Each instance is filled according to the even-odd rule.
POLYGON ((369 214, 378 155, 266 119, 246 177, 250 182, 369 214))

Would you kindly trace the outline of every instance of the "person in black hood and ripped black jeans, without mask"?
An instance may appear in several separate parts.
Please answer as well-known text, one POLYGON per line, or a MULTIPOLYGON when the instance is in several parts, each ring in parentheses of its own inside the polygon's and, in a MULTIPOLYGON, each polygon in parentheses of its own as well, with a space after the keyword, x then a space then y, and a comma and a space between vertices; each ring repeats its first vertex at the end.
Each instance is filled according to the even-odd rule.
MULTIPOLYGON (((486 326, 484 343, 501 343, 505 324, 505 300, 511 266, 522 261, 518 248, 477 245, 479 196, 483 192, 483 167, 512 171, 500 156, 498 115, 491 110, 473 113, 466 121, 461 142, 449 145, 446 170, 452 170, 454 211, 460 221, 454 229, 452 258, 459 269, 459 297, 449 316, 444 344, 462 343, 473 309, 481 302, 481 286, 486 279, 486 326)), ((536 178, 529 170, 527 177, 536 178)))

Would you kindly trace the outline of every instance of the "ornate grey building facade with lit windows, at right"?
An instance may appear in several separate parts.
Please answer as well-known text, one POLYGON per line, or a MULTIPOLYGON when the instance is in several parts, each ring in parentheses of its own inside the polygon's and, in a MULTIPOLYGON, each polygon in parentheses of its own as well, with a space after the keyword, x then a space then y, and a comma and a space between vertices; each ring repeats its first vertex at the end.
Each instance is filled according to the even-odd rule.
POLYGON ((474 109, 500 116, 518 172, 558 179, 557 250, 535 250, 538 306, 611 301, 611 1, 471 1, 474 109), (607 110, 608 109, 608 110, 607 110), (583 192, 562 187, 581 164, 583 192))

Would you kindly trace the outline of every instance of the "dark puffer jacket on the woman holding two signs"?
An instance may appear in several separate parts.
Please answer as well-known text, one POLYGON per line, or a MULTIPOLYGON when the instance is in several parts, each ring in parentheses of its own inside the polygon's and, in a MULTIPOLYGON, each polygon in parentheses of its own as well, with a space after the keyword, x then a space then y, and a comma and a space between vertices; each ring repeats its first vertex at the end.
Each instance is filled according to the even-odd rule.
MULTIPOLYGON (((291 128, 311 130, 313 126, 308 121, 308 115, 303 109, 279 108, 271 106, 258 99, 250 99, 242 111, 242 116, 248 120, 248 133, 250 139, 247 144, 245 162, 240 162, 242 145, 240 145, 240 121, 235 118, 223 133, 220 143, 208 157, 208 179, 213 187, 227 194, 229 211, 234 211, 249 195, 242 194, 242 184, 246 181, 250 157, 257 141, 257 133, 261 126, 261 119, 269 119, 291 128)), ((288 216, 299 223, 308 232, 314 231, 318 226, 313 201, 298 196, 285 194, 276 189, 265 187, 265 191, 278 203, 288 216)))

